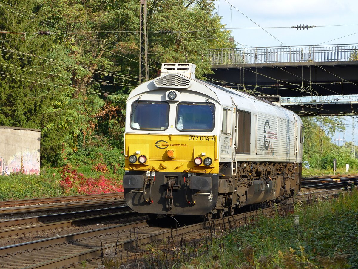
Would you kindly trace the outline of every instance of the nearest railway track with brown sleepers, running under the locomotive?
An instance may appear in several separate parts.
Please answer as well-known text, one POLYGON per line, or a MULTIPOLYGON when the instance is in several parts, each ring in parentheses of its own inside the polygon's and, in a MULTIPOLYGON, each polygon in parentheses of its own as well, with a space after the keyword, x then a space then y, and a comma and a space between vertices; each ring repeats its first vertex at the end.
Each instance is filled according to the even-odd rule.
MULTIPOLYGON (((338 191, 342 191, 342 189, 338 189, 338 191)), ((312 197, 312 195, 314 193, 306 193, 301 194, 301 197, 312 197)), ((274 208, 266 208, 263 209, 263 212, 269 213, 272 210, 274 208)), ((133 251, 145 249, 146 244, 156 240, 166 238, 171 240, 190 240, 198 238, 208 233, 209 226, 214 230, 219 230, 224 223, 229 224, 231 222, 231 225, 233 225, 233 222, 242 223, 244 219, 255 214, 256 212, 236 214, 211 223, 189 223, 188 221, 185 223, 169 223, 168 218, 158 223, 136 221, 4 246, 0 247, 0 267, 30 269, 70 268, 72 266, 71 268, 83 268, 81 266, 86 261, 86 268, 95 268, 100 262, 100 256, 103 251, 108 248, 116 248, 121 253, 122 258, 130 258, 133 251)), ((169 220, 171 219, 169 218, 169 220)), ((190 218, 191 222, 193 220, 193 218, 190 218)), ((123 263, 125 263, 125 260, 123 263)))

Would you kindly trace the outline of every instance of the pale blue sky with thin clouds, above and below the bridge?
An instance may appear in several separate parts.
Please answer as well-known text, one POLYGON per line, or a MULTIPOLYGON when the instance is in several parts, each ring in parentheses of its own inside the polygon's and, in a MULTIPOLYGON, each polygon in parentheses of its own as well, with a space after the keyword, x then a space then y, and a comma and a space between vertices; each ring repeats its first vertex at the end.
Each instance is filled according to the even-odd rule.
MULTIPOLYGON (((216 13, 238 48, 358 44, 357 0, 216 0, 216 13), (296 30, 291 26, 315 25, 296 30), (262 29, 263 28, 263 29, 262 29)), ((358 89, 357 89, 358 93, 358 89)), ((344 117, 346 131, 332 141, 358 145, 358 117, 344 117), (354 135, 352 136, 354 126, 354 135)))

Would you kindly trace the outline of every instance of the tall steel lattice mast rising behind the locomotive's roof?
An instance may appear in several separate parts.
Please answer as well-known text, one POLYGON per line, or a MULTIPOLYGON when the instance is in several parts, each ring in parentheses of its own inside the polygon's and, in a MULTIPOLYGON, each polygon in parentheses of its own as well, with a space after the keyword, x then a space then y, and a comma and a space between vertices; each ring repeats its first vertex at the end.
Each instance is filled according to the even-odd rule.
POLYGON ((148 80, 147 3, 140 0, 139 84, 148 80))

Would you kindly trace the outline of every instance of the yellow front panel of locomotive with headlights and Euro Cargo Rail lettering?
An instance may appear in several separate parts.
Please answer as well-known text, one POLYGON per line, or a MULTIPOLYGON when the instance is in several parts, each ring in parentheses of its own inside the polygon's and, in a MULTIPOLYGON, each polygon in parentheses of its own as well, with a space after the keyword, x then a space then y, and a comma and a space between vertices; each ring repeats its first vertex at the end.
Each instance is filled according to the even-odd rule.
POLYGON ((219 173, 217 136, 125 134, 125 170, 219 173))

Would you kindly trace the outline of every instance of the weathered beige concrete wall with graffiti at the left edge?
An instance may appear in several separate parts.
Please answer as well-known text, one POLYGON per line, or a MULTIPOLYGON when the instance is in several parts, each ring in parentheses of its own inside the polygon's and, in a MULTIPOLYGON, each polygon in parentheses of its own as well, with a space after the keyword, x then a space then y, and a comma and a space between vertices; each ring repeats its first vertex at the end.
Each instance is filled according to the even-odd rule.
POLYGON ((39 129, 0 126, 0 176, 40 173, 39 129))

